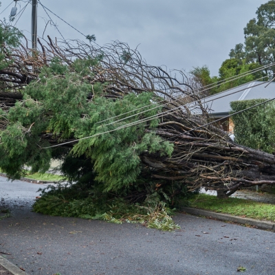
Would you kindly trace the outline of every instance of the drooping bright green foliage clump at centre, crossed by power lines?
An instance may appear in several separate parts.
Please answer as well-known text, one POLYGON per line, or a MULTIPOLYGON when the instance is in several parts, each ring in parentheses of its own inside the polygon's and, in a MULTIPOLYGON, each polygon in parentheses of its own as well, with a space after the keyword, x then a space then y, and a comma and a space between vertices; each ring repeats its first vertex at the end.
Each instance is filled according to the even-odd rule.
MULTIPOLYGON (((140 95, 129 94, 121 100, 107 100, 96 98, 94 100, 93 113, 78 125, 75 135, 77 137, 92 136, 87 140, 80 140, 72 151, 73 155, 79 157, 86 155, 94 161, 94 170, 97 173, 96 180, 104 183, 106 190, 118 190, 127 187, 137 180, 141 171, 140 153, 159 152, 160 155, 171 155, 173 144, 162 142, 155 133, 144 133, 146 122, 123 128, 127 123, 135 122, 139 118, 155 115, 159 109, 146 111, 142 116, 133 115, 131 118, 114 122, 108 120, 106 125, 100 123, 114 116, 120 115, 120 120, 125 118, 123 113, 150 104, 152 94, 142 93, 140 95), (122 127, 117 131, 113 131, 122 127), (111 131, 111 132, 110 132, 111 131), (100 133, 104 133, 99 135, 100 133), (89 148, 93 148, 89 150, 89 148)), ((105 122, 106 123, 106 122, 105 122)), ((157 120, 151 126, 157 126, 157 120)))

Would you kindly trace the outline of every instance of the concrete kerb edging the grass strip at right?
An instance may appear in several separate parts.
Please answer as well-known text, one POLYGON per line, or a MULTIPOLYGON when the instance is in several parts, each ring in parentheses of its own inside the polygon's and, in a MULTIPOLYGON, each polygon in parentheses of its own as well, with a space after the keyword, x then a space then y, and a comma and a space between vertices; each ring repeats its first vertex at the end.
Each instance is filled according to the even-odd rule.
POLYGON ((195 216, 211 217, 214 219, 219 219, 221 221, 233 221, 235 223, 241 223, 244 225, 252 225, 252 226, 256 226, 257 228, 261 228, 265 230, 275 230, 275 223, 272 223, 270 221, 259 221, 256 219, 241 218, 241 217, 232 216, 230 214, 221 214, 221 213, 197 209, 197 208, 184 207, 184 208, 181 208, 181 211, 184 211, 188 214, 193 214, 195 216))

